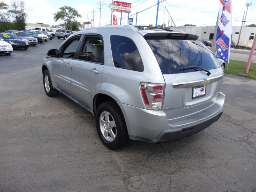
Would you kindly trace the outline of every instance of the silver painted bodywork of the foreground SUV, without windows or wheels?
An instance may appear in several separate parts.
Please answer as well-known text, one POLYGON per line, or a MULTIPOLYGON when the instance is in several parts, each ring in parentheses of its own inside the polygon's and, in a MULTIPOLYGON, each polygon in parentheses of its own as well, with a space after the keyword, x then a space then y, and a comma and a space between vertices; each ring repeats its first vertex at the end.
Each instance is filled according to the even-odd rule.
MULTIPOLYGON (((139 31, 128 25, 81 30, 67 40, 79 34, 100 34, 104 43, 103 65, 50 57, 45 58, 43 65, 47 66, 50 76, 54 77, 52 84, 55 88, 65 92, 69 98, 92 113, 95 112, 94 98, 98 94, 105 94, 115 100, 122 110, 131 139, 152 143, 178 140, 203 130, 220 118, 225 99, 225 95, 220 92, 223 72, 221 68, 216 68, 210 70, 210 76, 204 71, 163 75, 156 56, 143 37, 144 34, 154 31, 139 31), (133 40, 144 64, 143 72, 114 66, 111 35, 125 36, 133 40), (56 63, 54 67, 53 62, 56 63), (60 75, 61 70, 66 72, 60 75), (140 82, 165 85, 162 110, 146 109, 140 92, 140 82), (195 86, 206 86, 206 95, 193 99, 195 86), (187 128, 190 130, 187 131, 187 128)), ((161 33, 159 30, 157 32, 161 33)))

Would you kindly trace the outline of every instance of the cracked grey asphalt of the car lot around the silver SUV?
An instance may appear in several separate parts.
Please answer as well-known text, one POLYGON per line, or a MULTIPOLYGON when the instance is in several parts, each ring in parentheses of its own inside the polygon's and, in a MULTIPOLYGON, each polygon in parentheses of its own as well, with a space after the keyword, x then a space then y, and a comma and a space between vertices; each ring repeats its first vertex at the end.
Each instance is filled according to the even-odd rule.
POLYGON ((0 55, 0 192, 256 191, 256 80, 225 75, 224 113, 196 135, 111 151, 92 114, 44 92, 41 64, 62 42, 0 55))

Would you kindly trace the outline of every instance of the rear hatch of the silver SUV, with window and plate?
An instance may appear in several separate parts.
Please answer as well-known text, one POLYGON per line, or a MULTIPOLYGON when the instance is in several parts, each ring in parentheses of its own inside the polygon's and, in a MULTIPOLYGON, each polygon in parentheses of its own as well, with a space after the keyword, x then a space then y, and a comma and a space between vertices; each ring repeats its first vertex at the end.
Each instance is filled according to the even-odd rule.
POLYGON ((162 110, 173 126, 203 120, 217 113, 223 72, 198 36, 186 33, 147 33, 165 80, 162 110), (195 67, 196 66, 196 67, 195 67))

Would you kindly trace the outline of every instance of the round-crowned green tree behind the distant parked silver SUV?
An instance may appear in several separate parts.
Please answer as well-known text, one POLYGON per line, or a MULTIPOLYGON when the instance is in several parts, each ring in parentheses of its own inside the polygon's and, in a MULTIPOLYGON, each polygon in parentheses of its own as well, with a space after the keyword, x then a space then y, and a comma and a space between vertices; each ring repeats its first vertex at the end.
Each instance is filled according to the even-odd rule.
POLYGON ((54 20, 63 20, 64 23, 60 24, 60 26, 63 26, 66 30, 72 30, 76 26, 77 21, 76 18, 82 17, 77 10, 72 8, 71 6, 63 6, 59 8, 60 11, 57 13, 54 13, 54 20))

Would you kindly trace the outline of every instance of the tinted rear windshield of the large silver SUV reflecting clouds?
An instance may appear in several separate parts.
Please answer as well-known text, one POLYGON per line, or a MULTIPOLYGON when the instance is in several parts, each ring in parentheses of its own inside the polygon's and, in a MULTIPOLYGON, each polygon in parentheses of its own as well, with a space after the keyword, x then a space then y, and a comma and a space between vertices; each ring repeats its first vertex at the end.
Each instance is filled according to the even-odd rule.
POLYGON ((162 74, 201 71, 200 68, 178 70, 187 66, 205 69, 218 68, 214 56, 199 41, 191 40, 147 40, 154 52, 162 74))

